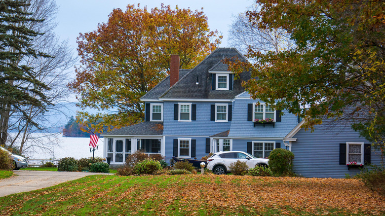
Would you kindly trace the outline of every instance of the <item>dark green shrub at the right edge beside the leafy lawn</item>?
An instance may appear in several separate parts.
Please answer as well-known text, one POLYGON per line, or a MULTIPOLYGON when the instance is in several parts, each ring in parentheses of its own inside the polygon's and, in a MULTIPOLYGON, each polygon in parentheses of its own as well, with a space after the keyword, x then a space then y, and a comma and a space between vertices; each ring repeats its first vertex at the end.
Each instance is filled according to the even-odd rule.
POLYGON ((354 178, 362 180, 367 187, 385 196, 385 167, 375 165, 369 167, 355 175, 354 178))

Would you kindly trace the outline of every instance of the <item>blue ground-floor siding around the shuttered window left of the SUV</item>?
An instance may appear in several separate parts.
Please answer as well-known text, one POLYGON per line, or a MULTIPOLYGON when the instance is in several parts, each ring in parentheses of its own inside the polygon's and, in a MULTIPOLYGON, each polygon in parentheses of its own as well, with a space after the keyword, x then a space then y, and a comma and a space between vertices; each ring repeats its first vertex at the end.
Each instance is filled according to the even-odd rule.
MULTIPOLYGON (((196 140, 195 146, 195 157, 197 160, 200 160, 206 154, 206 138, 209 137, 194 137, 194 136, 166 136, 165 137, 165 161, 170 164, 170 160, 173 156, 173 142, 174 139, 178 138, 191 138, 192 140, 196 140)), ((190 158, 194 159, 194 158, 190 158)))

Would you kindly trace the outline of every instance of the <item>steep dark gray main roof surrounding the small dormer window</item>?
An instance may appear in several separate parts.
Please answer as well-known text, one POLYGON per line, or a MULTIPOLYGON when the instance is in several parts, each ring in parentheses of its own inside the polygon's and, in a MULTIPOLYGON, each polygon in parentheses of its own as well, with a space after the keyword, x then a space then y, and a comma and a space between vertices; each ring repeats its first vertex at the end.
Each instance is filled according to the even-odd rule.
POLYGON ((179 79, 160 96, 160 99, 233 99, 244 91, 241 81, 250 79, 250 72, 241 73, 240 79, 233 82, 233 90, 228 91, 212 90, 212 76, 208 72, 222 59, 233 57, 244 62, 247 61, 235 48, 217 48, 182 79, 179 79), (197 77, 198 85, 195 84, 197 77))

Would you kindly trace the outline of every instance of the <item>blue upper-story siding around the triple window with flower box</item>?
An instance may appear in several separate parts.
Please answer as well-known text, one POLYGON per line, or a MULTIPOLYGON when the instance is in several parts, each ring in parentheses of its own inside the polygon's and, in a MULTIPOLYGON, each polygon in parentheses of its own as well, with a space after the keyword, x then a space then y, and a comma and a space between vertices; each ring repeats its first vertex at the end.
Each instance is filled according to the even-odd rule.
POLYGON ((281 122, 275 122, 274 127, 272 125, 265 125, 265 127, 256 125, 254 127, 252 121, 247 121, 247 105, 259 102, 259 100, 249 98, 250 96, 244 93, 234 100, 229 137, 283 138, 298 124, 297 116, 282 110, 284 115, 281 116, 281 122))

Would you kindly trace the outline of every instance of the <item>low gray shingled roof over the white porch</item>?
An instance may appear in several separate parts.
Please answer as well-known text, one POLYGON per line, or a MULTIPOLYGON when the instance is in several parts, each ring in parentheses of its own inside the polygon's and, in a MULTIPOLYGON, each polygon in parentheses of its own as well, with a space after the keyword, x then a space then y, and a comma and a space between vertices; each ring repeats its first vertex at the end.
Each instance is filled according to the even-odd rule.
POLYGON ((163 135, 163 122, 145 121, 103 134, 108 135, 160 136, 163 135))

